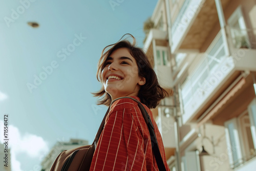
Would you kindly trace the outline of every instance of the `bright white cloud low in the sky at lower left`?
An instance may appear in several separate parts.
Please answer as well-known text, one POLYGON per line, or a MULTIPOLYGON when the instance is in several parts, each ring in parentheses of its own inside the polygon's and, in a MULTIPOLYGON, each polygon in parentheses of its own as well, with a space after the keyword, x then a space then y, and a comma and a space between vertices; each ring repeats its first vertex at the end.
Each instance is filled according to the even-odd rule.
MULTIPOLYGON (((4 132, 4 122, 0 120, 1 133, 4 132)), ((22 171, 21 163, 16 159, 19 154, 26 154, 31 158, 41 160, 49 152, 48 143, 37 135, 25 133, 21 135, 18 128, 9 125, 9 148, 11 149, 11 167, 15 171, 22 171)), ((0 141, 3 143, 3 135, 0 135, 0 141)), ((29 159, 28 159, 29 161, 29 159)))

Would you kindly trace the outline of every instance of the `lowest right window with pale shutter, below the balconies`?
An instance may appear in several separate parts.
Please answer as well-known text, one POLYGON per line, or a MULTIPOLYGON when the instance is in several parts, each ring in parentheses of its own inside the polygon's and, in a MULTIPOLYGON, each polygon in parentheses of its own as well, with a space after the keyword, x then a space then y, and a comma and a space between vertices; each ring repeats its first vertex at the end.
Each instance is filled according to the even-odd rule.
POLYGON ((239 117, 225 122, 229 163, 232 168, 253 158, 256 147, 256 99, 239 117))

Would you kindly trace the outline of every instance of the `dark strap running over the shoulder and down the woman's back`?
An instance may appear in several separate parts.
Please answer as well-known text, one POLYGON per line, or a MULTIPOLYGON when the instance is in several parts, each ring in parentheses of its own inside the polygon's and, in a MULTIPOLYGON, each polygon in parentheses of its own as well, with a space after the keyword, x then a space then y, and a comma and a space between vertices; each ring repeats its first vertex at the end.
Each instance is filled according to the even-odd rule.
MULTIPOLYGON (((145 122, 147 124, 147 127, 148 127, 148 130, 150 131, 150 137, 151 137, 151 144, 152 144, 152 151, 154 153, 154 156, 155 156, 155 159, 156 159, 156 162, 157 162, 157 166, 159 168, 159 170, 166 170, 165 166, 164 166, 164 163, 163 163, 163 159, 162 159, 162 156, 161 156, 161 153, 159 151, 159 147, 158 147, 158 143, 157 143, 157 138, 156 138, 156 134, 154 132, 154 125, 150 119, 150 115, 148 115, 148 113, 146 112, 144 106, 141 104, 140 101, 132 98, 132 97, 120 97, 120 98, 117 98, 115 100, 112 101, 112 103, 118 99, 122 99, 122 98, 130 98, 134 101, 136 101, 138 103, 138 106, 140 108, 140 111, 142 112, 142 115, 145 119, 145 122)), ((112 104, 111 103, 111 104, 112 104)))

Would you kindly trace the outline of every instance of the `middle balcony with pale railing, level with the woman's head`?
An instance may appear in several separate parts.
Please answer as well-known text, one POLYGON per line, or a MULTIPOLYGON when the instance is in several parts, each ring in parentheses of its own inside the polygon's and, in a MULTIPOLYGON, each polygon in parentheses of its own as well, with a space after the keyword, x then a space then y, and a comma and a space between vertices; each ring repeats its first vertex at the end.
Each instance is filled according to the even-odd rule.
POLYGON ((189 73, 181 86, 183 123, 196 120, 202 114, 203 108, 210 105, 209 101, 220 94, 223 85, 238 71, 256 71, 256 50, 253 49, 255 41, 248 38, 254 37, 248 36, 254 35, 253 33, 253 30, 229 29, 226 36, 225 32, 220 30, 200 63, 189 73), (238 38, 238 33, 244 38, 238 38))

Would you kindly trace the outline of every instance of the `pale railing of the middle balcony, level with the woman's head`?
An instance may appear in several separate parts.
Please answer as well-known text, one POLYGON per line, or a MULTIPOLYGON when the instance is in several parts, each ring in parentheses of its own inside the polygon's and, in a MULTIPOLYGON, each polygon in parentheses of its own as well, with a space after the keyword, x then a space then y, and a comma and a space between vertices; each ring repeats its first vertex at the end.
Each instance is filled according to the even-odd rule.
POLYGON ((191 73, 186 81, 181 86, 181 94, 184 108, 193 99, 202 93, 204 82, 209 76, 216 72, 221 65, 221 62, 228 56, 228 45, 225 39, 231 39, 231 45, 234 49, 247 48, 256 49, 256 29, 238 29, 230 28, 229 36, 226 37, 220 31, 215 40, 207 49, 200 64, 191 73))

